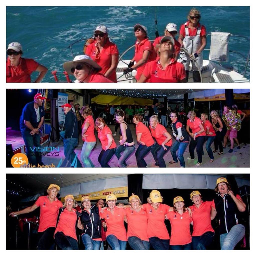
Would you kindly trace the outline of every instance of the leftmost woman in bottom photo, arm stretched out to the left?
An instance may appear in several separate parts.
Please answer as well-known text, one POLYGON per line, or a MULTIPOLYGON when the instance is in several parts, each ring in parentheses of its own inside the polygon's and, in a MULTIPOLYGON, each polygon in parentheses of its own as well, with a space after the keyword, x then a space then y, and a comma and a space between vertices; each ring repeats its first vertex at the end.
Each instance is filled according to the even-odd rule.
POLYGON ((39 241, 37 250, 50 250, 54 244, 53 235, 56 228, 59 208, 62 207, 62 202, 56 197, 60 187, 56 184, 51 184, 46 190, 48 196, 40 196, 35 204, 20 211, 11 212, 12 217, 20 214, 26 214, 40 207, 40 222, 38 228, 39 241))

